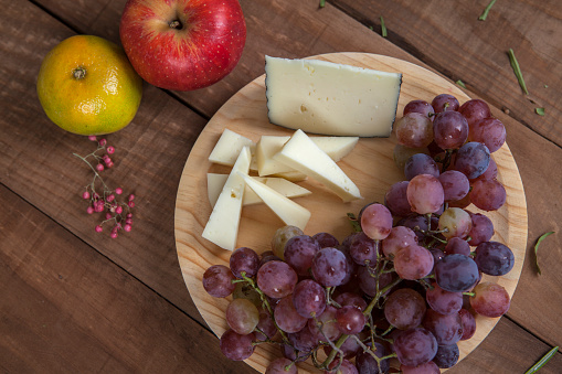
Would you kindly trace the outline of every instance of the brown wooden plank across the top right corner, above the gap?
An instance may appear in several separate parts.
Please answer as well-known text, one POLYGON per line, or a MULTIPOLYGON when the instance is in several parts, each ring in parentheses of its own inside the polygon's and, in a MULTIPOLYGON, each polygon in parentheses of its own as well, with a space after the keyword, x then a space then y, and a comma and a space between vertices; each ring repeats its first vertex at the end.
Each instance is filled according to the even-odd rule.
POLYGON ((462 79, 498 108, 562 146, 562 12, 558 0, 499 1, 486 21, 478 17, 488 0, 368 1, 335 0, 338 7, 380 32, 384 18, 389 40, 435 67, 462 79), (513 49, 529 96, 519 87, 507 52, 513 49), (548 87, 545 87, 545 85, 548 87), (534 108, 545 108, 545 116, 534 108))

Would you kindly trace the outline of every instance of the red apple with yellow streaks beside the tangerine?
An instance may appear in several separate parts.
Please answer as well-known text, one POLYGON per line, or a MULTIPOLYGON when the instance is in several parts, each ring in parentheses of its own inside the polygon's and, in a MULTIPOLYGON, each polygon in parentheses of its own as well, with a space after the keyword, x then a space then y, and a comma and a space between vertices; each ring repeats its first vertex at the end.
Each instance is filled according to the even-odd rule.
POLYGON ((191 90, 232 72, 244 50, 246 23, 237 0, 128 0, 119 34, 145 81, 191 90))

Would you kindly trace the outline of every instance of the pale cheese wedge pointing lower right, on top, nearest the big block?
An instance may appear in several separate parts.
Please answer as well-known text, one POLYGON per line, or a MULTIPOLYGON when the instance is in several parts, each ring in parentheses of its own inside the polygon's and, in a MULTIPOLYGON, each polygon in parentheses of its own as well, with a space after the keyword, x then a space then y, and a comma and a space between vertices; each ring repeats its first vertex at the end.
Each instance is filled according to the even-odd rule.
POLYGON ((343 202, 362 199, 351 179, 303 130, 295 131, 275 158, 325 184, 343 202))

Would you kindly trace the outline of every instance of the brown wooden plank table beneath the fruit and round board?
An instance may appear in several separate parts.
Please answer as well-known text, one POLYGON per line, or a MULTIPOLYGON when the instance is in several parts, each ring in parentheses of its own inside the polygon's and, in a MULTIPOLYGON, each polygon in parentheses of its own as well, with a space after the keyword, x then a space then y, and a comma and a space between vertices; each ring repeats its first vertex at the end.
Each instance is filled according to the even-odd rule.
MULTIPOLYGON (((125 0, 0 0, 0 371, 3 373, 253 373, 224 359, 192 303, 173 236, 176 193, 190 149, 213 114, 264 73, 264 55, 384 54, 466 84, 507 127, 527 195, 529 239, 507 316, 450 373, 524 373, 562 344, 562 13, 558 0, 242 0, 247 41, 237 67, 197 92, 145 84, 134 122, 107 136, 108 183, 137 195, 132 232, 94 231, 73 152, 95 147, 44 115, 42 58, 60 41, 119 42, 125 0), (388 38, 381 36, 384 18, 388 38), (513 49, 530 94, 510 67, 513 49), (544 108, 544 116, 536 114, 544 108), (539 250, 545 232, 555 234, 539 250)), ((561 373, 558 353, 541 373, 561 373)))

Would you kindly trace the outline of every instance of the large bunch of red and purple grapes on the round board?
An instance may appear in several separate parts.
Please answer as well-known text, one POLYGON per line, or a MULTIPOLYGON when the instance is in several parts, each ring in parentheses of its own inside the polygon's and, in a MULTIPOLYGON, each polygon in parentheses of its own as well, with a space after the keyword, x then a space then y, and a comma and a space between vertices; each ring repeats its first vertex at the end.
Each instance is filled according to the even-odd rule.
POLYGON ((513 254, 491 241, 485 214, 466 210, 497 210, 506 200, 490 158, 503 125, 481 100, 459 106, 439 95, 406 105, 395 131, 406 180, 384 204, 359 212, 357 232, 340 243, 284 226, 272 250, 237 248, 229 267, 206 269, 204 289, 233 296, 220 341, 226 357, 245 360, 273 343, 282 357, 267 374, 297 373, 309 359, 325 373, 389 373, 391 359, 404 374, 439 373, 458 361, 476 314, 507 312, 506 289, 481 278, 510 271, 513 254))

